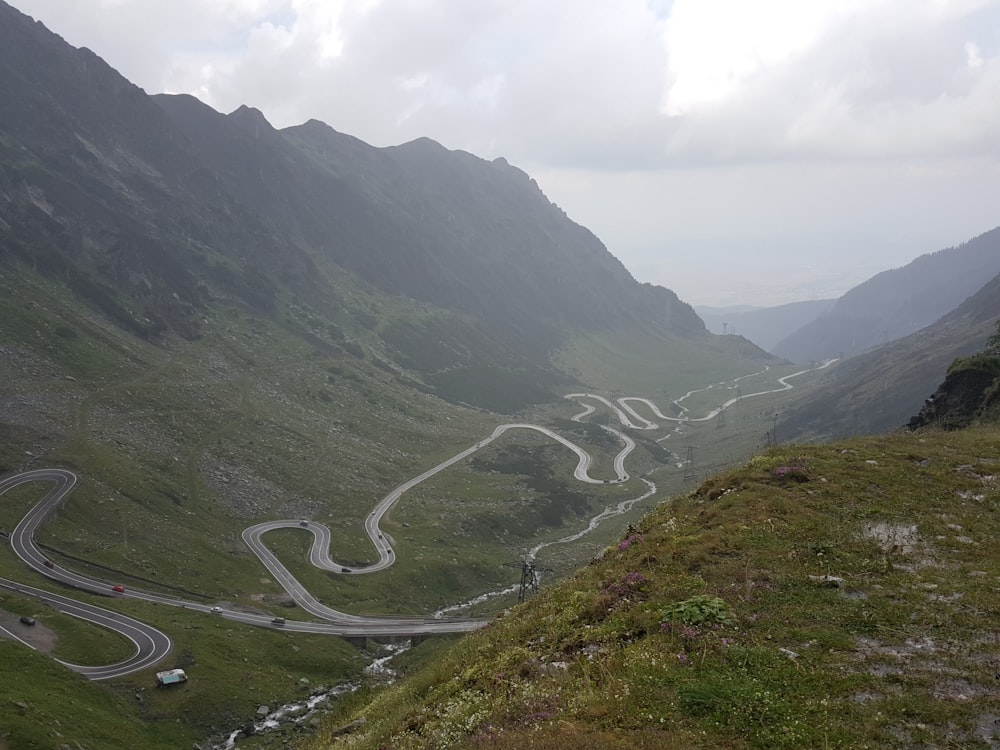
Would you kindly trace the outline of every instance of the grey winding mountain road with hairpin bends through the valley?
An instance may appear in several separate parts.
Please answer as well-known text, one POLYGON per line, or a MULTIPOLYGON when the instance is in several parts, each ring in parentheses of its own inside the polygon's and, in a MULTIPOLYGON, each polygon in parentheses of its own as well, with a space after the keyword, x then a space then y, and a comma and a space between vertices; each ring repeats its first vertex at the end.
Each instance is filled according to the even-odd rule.
MULTIPOLYGON (((657 418, 669 422, 704 422, 718 416, 726 408, 732 406, 737 401, 742 399, 751 398, 753 396, 761 396, 768 393, 777 393, 784 390, 792 388, 792 385, 788 382, 794 377, 803 375, 807 372, 813 370, 823 369, 828 367, 833 363, 834 360, 823 363, 819 367, 810 368, 802 370, 800 372, 793 373, 791 375, 786 375, 778 379, 781 383, 781 388, 776 388, 767 391, 759 391, 757 393, 748 394, 745 396, 737 397, 726 401, 722 406, 711 411, 708 415, 699 418, 691 418, 687 416, 687 410, 681 405, 681 402, 699 391, 691 391, 685 396, 677 399, 673 403, 681 409, 681 413, 684 416, 671 417, 663 414, 659 407, 652 401, 646 398, 627 396, 617 399, 617 401, 611 401, 604 396, 593 393, 573 393, 566 396, 567 399, 577 401, 582 407, 583 411, 573 417, 574 421, 582 421, 583 418, 592 414, 596 407, 593 403, 588 403, 588 401, 597 402, 608 407, 611 412, 616 416, 618 421, 623 427, 636 430, 655 430, 659 428, 659 424, 651 420, 646 419, 639 415, 635 409, 630 405, 632 403, 642 404, 649 408, 650 412, 657 418)), ((746 377, 752 377, 753 375, 759 375, 766 371, 762 370, 759 373, 753 373, 746 377)), ((744 378, 738 378, 742 380, 744 378)), ((721 384, 715 384, 721 385, 721 384)), ((715 385, 708 386, 705 389, 715 387, 715 385)), ((621 482, 626 482, 630 479, 630 475, 625 471, 625 459, 628 455, 635 449, 635 441, 632 440, 626 433, 618 430, 614 427, 607 425, 601 425, 603 429, 609 433, 615 435, 622 443, 621 450, 616 454, 613 461, 613 469, 615 473, 614 479, 595 479, 590 476, 590 468, 593 462, 591 455, 576 445, 570 440, 567 440, 562 435, 559 435, 553 430, 542 427, 540 425, 529 424, 529 423, 512 423, 503 424, 498 426, 491 435, 479 440, 474 445, 466 448, 465 450, 455 454, 446 461, 442 461, 437 466, 428 469, 424 473, 416 476, 410 480, 407 480, 403 484, 399 485, 393 489, 389 494, 383 497, 375 505, 371 513, 366 517, 364 522, 365 533, 371 540, 372 545, 378 555, 378 560, 370 565, 366 566, 348 566, 342 563, 338 563, 331 559, 329 550, 331 535, 330 530, 323 524, 302 521, 302 520, 275 520, 267 521, 264 523, 259 523, 254 526, 249 527, 243 532, 243 540, 246 542, 247 546, 258 559, 261 564, 268 570, 268 572, 274 576, 275 580, 288 592, 292 599, 298 604, 303 611, 313 615, 314 617, 325 620, 326 622, 316 623, 316 622, 304 622, 304 621, 285 621, 280 618, 272 618, 270 615, 252 614, 241 612, 232 609, 222 609, 220 607, 212 607, 206 604, 201 604, 198 602, 185 601, 183 599, 177 599, 173 597, 161 596, 159 594, 154 594, 150 592, 144 592, 141 590, 129 589, 127 591, 114 592, 112 590, 112 584, 101 581, 94 578, 89 578, 87 576, 80 575, 71 570, 67 570, 61 566, 53 564, 49 561, 44 553, 39 549, 35 543, 35 532, 38 528, 48 519, 48 517, 59 507, 59 505, 64 502, 68 494, 72 491, 73 487, 76 485, 77 477, 76 475, 66 469, 37 469, 33 471, 23 472, 12 477, 8 477, 3 481, 0 481, 0 495, 7 492, 8 490, 17 487, 19 485, 28 482, 48 482, 54 486, 45 494, 45 496, 35 504, 21 519, 18 525, 15 527, 14 531, 10 535, 11 549, 14 553, 32 570, 40 573, 41 575, 57 581, 66 586, 87 591, 93 594, 98 594, 101 596, 124 598, 124 599, 140 599, 148 602, 155 602, 158 604, 163 604, 167 606, 183 607, 186 609, 191 609, 195 611, 201 611, 205 613, 211 613, 215 616, 224 617, 227 620, 234 622, 245 623, 247 625, 256 625, 263 627, 277 627, 283 630, 293 631, 293 632, 304 632, 304 633, 322 633, 328 635, 339 635, 339 636, 405 636, 405 635, 427 635, 435 633, 461 633, 474 630, 486 624, 485 620, 479 619, 469 619, 469 618, 407 618, 407 617, 371 617, 362 615, 351 615, 345 612, 328 607, 319 601, 317 601, 301 583, 299 583, 292 573, 281 563, 280 560, 267 548, 263 542, 263 535, 268 531, 274 529, 283 528, 293 528, 303 531, 308 531, 313 535, 313 544, 309 552, 309 561, 316 567, 343 575, 363 575, 376 573, 381 570, 385 570, 391 566, 395 560, 396 556, 393 552, 392 545, 386 539, 385 534, 380 528, 380 522, 385 517, 385 515, 392 509, 392 507, 399 501, 404 493, 417 486, 421 482, 430 479, 441 471, 444 471, 450 466, 463 461, 475 452, 482 450, 493 441, 502 437, 505 433, 511 430, 530 430, 534 432, 541 433, 546 437, 554 440, 555 442, 565 446, 570 451, 572 451, 577 457, 577 464, 573 470, 573 476, 581 481, 589 484, 618 484, 621 482)), ((630 508, 634 503, 639 500, 645 499, 655 493, 656 486, 646 480, 642 480, 647 485, 647 491, 641 496, 634 498, 632 500, 623 501, 617 506, 612 506, 605 509, 605 511, 596 516, 591 520, 591 523, 583 531, 564 537, 563 539, 557 540, 556 542, 544 543, 535 547, 532 550, 532 556, 537 554, 538 550, 548 544, 560 543, 564 541, 570 541, 573 539, 578 539, 588 531, 596 527, 600 520, 611 515, 617 515, 624 512, 627 508, 630 508)), ((55 594, 44 589, 39 589, 33 586, 28 586, 15 581, 10 581, 7 579, 0 579, 0 587, 15 591, 19 594, 31 596, 39 601, 45 602, 57 609, 58 611, 64 612, 66 614, 72 615, 74 617, 79 617, 88 622, 92 622, 96 625, 102 627, 107 627, 121 633, 124 637, 129 639, 135 646, 135 653, 129 658, 118 662, 116 664, 111 664, 107 666, 83 666, 78 664, 66 664, 70 669, 79 672, 80 674, 88 677, 92 680, 103 680, 122 677, 124 675, 136 672, 142 669, 146 669, 162 659, 164 659, 172 648, 172 643, 165 633, 159 629, 135 620, 131 617, 123 615, 119 612, 115 612, 103 607, 99 607, 93 604, 87 604, 83 602, 70 599, 69 597, 62 596, 60 594, 55 594)))

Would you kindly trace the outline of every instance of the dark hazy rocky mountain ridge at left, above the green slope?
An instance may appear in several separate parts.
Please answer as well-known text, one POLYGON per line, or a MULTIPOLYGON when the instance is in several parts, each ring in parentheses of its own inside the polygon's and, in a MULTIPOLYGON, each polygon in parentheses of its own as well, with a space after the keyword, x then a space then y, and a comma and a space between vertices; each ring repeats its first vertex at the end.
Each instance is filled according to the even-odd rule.
POLYGON ((151 97, 2 2, 0 97, 0 258, 146 340, 237 304, 512 409, 573 379, 552 357, 574 336, 709 338, 503 159, 151 97))

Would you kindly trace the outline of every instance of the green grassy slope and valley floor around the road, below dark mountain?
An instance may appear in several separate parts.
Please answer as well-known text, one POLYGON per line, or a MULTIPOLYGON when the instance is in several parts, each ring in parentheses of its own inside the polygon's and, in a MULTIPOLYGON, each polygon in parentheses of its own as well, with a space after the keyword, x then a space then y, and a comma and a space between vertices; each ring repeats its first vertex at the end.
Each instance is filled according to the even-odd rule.
MULTIPOLYGON (((360 342, 363 350, 341 346, 333 354, 318 354, 289 337, 283 323, 325 335, 321 322, 293 304, 277 322, 221 310, 207 319, 200 340, 157 348, 108 327, 68 301, 58 285, 7 269, 0 276, 5 417, 0 471, 55 464, 78 470, 82 480, 40 535, 53 559, 109 584, 158 588, 150 583, 155 581, 167 592, 179 587, 191 592, 184 596, 201 601, 286 616, 294 616, 294 610, 287 609, 280 588, 239 538, 247 525, 274 517, 314 518, 331 527, 338 558, 369 559, 371 548, 359 529, 371 505, 399 482, 510 418, 445 404, 380 365, 376 333, 388 321, 405 318, 409 303, 369 299, 346 282, 344 293, 355 295, 352 309, 366 309, 368 315, 339 320, 336 335, 360 342)), ((634 382, 622 387, 649 386, 651 391, 638 392, 661 403, 703 384, 695 376, 697 367, 709 372, 709 381, 756 369, 749 361, 725 369, 721 352, 697 362, 688 353, 677 358, 678 367, 663 369, 667 363, 655 357, 643 365, 636 342, 602 342, 608 345, 631 357, 627 371, 634 382), (654 378, 654 370, 666 374, 654 378)), ((583 371, 596 369, 601 351, 584 349, 583 371)), ((773 382, 773 375, 769 379, 773 382)), ((694 412, 707 411, 726 396, 707 392, 688 404, 694 412)), ((760 408, 770 399, 761 399, 760 408)), ((568 417, 578 411, 575 404, 560 402, 515 419, 557 426, 594 452, 596 476, 611 476, 610 457, 617 446, 593 425, 570 423, 568 417)), ((727 430, 692 427, 690 434, 671 434, 665 443, 655 442, 665 433, 637 433, 640 448, 630 457, 629 470, 645 473, 661 492, 680 491, 690 479, 674 459, 685 445, 699 446, 697 473, 704 475, 745 457, 759 439, 752 436, 764 432, 767 420, 761 422, 759 414, 741 407, 733 411, 727 430)), ((569 452, 530 433, 511 433, 476 459, 414 490, 387 519, 386 530, 406 564, 384 575, 344 580, 315 571, 303 562, 303 534, 276 532, 268 542, 317 597, 334 606, 426 613, 516 583, 517 571, 504 563, 536 541, 578 530, 605 505, 644 491, 638 480, 581 486, 571 477, 575 459, 569 452), (544 471, 539 473, 539 467, 544 471)), ((42 485, 25 486, 5 495, 0 529, 12 528, 42 491, 42 485)), ((654 501, 576 545, 546 549, 542 564, 557 573, 575 569, 654 501)), ((0 554, 0 575, 48 585, 27 574, 9 550, 0 554)), ((113 606, 164 627, 177 647, 160 667, 184 666, 192 674, 192 681, 175 692, 149 692, 153 670, 112 685, 79 683, 85 702, 134 691, 147 696, 143 703, 124 705, 133 707, 131 716, 149 721, 150 747, 162 738, 201 741, 232 729, 262 702, 297 697, 298 678, 306 676, 313 684, 342 679, 355 675, 361 664, 358 653, 337 639, 290 639, 135 602, 113 606), (261 653, 268 658, 258 658, 261 653), (305 653, 309 658, 303 661, 305 653), (183 723, 175 726, 178 716, 183 723)), ((40 625, 58 637, 58 653, 65 658, 124 656, 122 644, 104 631, 27 600, 5 600, 0 608, 38 616, 40 625)), ((46 694, 41 684, 50 679, 58 678, 38 673, 38 695, 46 694)), ((18 700, 16 690, 6 693, 9 689, 4 684, 0 693, 18 700)), ((59 707, 53 702, 33 710, 44 714, 59 707)), ((89 734, 91 729, 106 721, 101 711, 88 711, 74 711, 80 719, 77 738, 84 746, 113 746, 87 740, 97 736, 89 734)))

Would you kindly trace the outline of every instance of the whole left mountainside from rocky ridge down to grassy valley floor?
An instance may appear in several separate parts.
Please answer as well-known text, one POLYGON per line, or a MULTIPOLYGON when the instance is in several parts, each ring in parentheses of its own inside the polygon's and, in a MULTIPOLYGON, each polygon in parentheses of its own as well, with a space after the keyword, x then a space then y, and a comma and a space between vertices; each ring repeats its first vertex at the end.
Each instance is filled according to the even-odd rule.
MULTIPOLYGON (((0 94, 0 474, 79 475, 38 541, 109 588, 294 619, 240 536, 255 522, 324 523, 331 554, 364 565, 374 553, 363 521, 378 499, 508 415, 580 441, 605 479, 619 445, 570 422, 578 407, 565 393, 636 392, 666 407, 715 383, 689 402, 704 413, 725 399, 724 382, 757 373, 747 387, 767 389, 792 371, 638 283, 502 159, 426 139, 374 148, 315 121, 276 130, 250 107, 225 115, 149 96, 2 0, 0 94)), ((699 470, 745 456, 763 410, 785 398, 746 409, 745 436, 732 427, 725 442, 701 441, 699 470)), ((661 491, 683 486, 660 437, 636 435, 629 482, 582 486, 569 451, 512 432, 407 495, 384 527, 400 562, 379 575, 320 572, 297 530, 267 543, 331 606, 426 616, 508 587, 517 573, 506 563, 647 493, 639 475, 661 491)), ((41 493, 5 494, 0 531, 41 493)), ((547 564, 574 568, 642 511, 560 545, 547 564)), ((0 576, 55 587, 6 545, 0 576)), ((302 680, 354 679, 367 661, 340 638, 103 603, 161 627, 168 659, 101 684, 33 669, 51 656, 115 662, 129 644, 0 595, 0 618, 35 617, 44 647, 7 658, 24 647, 0 644, 0 705, 18 717, 0 741, 114 747, 105 727, 120 711, 135 728, 120 747, 203 744, 262 703, 300 697, 302 680), (170 667, 188 669, 183 689, 148 689, 170 667), (63 700, 61 681, 78 700, 63 700)))

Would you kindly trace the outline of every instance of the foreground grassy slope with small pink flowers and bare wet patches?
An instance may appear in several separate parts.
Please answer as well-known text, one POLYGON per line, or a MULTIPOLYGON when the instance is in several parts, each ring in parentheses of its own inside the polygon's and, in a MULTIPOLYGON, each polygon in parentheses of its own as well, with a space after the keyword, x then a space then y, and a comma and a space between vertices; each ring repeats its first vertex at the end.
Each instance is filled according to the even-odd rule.
POLYGON ((996 746, 998 466, 995 427, 773 448, 303 747, 996 746))

